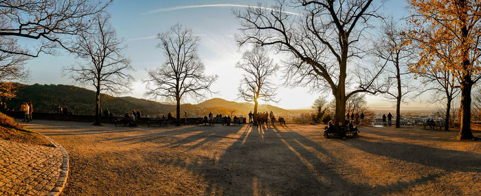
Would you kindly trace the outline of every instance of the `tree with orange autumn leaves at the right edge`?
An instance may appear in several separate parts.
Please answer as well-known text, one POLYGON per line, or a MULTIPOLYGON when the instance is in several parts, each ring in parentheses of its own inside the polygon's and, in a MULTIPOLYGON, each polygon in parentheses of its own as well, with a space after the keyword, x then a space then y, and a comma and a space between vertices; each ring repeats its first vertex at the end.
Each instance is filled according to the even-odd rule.
POLYGON ((427 67, 449 70, 460 83, 461 127, 458 138, 472 139, 471 88, 481 78, 481 3, 468 0, 408 0, 410 30, 406 34, 421 47, 416 72, 427 67), (445 53, 449 48, 449 53, 445 53), (434 63, 433 63, 434 62, 434 63))

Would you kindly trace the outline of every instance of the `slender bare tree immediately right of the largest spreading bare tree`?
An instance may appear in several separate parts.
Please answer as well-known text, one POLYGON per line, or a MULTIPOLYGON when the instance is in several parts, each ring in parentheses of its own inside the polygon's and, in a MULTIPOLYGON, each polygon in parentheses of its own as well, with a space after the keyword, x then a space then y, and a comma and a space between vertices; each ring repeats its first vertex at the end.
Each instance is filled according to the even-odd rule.
POLYGON ((396 128, 401 122, 401 102, 405 102, 407 94, 414 91, 409 63, 414 61, 414 48, 407 43, 401 28, 390 19, 383 26, 383 34, 374 46, 374 55, 388 62, 385 68, 387 88, 385 97, 396 100, 396 128), (392 89, 390 87, 396 87, 392 89))

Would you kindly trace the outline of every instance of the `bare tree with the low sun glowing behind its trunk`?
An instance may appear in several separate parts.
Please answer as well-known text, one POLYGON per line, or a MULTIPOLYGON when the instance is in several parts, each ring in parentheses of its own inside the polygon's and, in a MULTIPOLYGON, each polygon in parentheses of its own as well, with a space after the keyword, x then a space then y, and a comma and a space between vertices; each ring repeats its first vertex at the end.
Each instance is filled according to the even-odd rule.
POLYGON ((254 47, 244 52, 242 61, 237 62, 236 67, 243 69, 244 78, 238 88, 239 98, 247 102, 254 102, 254 125, 257 125, 258 101, 274 101, 276 87, 269 77, 274 76, 279 66, 273 63, 272 58, 262 47, 254 47))

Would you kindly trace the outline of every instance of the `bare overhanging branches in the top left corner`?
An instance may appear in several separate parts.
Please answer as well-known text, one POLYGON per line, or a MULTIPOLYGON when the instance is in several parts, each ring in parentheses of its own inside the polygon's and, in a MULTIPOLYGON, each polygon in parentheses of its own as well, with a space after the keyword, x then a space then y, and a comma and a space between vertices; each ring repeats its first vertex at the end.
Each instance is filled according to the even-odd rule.
POLYGON ((102 12, 107 3, 96 0, 0 1, 0 16, 5 25, 0 36, 38 40, 35 51, 0 47, 1 52, 37 57, 54 48, 69 49, 69 38, 90 28, 91 17, 102 12), (5 21, 3 21, 5 20, 5 21))

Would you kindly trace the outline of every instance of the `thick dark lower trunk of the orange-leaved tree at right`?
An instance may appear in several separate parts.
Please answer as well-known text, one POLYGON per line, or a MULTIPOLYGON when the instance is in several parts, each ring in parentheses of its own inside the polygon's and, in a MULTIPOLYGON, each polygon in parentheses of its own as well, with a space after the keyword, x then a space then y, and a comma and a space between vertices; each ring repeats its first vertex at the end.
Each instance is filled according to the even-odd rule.
POLYGON ((469 140, 473 138, 471 132, 471 76, 463 77, 461 83, 461 127, 458 138, 460 140, 469 140))

